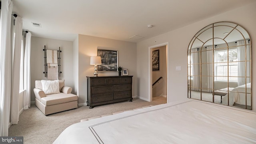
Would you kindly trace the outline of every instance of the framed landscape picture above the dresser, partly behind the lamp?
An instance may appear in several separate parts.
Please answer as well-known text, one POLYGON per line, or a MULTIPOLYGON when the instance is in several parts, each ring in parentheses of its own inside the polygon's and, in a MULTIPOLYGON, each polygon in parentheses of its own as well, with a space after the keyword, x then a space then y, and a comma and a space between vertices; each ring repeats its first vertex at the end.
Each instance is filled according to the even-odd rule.
POLYGON ((116 72, 118 67, 118 51, 98 50, 101 57, 101 65, 98 65, 99 72, 116 72))

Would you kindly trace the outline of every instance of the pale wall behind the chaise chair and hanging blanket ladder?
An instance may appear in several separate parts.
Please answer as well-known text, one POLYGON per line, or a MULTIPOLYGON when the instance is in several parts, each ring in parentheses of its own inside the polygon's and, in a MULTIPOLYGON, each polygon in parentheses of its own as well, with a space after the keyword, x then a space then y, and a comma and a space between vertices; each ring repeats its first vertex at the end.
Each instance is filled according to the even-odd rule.
POLYGON ((74 78, 73 78, 73 42, 65 40, 54 40, 49 38, 38 38, 32 36, 31 38, 31 102, 35 101, 35 94, 33 88, 35 87, 35 80, 47 80, 44 77, 44 45, 49 50, 60 50, 60 80, 65 80, 65 85, 70 86, 74 93, 74 78))

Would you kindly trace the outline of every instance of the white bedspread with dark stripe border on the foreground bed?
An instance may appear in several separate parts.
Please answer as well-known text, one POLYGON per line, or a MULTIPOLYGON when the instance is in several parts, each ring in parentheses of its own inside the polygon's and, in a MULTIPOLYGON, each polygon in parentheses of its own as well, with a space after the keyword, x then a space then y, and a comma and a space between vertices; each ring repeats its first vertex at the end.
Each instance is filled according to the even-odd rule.
POLYGON ((54 144, 252 144, 256 113, 208 102, 168 103, 73 124, 54 144))

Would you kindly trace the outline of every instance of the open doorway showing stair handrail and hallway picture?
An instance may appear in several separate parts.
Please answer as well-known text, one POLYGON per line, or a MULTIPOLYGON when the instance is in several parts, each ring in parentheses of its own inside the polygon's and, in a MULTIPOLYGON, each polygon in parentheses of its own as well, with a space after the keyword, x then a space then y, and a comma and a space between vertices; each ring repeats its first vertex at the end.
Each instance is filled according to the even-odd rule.
POLYGON ((149 47, 149 96, 150 102, 155 100, 168 103, 168 54, 169 43, 149 47))

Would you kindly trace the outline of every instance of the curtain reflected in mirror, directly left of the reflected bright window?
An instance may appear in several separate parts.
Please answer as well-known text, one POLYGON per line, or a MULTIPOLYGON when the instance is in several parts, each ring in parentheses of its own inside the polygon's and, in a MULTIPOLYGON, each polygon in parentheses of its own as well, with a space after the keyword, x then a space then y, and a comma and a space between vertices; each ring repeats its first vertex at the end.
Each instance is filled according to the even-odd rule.
POLYGON ((212 92, 212 84, 213 84, 213 46, 207 46, 206 47, 206 55, 207 55, 207 69, 208 69, 208 82, 207 82, 207 86, 208 86, 208 92, 212 92))

